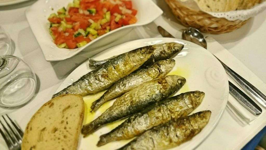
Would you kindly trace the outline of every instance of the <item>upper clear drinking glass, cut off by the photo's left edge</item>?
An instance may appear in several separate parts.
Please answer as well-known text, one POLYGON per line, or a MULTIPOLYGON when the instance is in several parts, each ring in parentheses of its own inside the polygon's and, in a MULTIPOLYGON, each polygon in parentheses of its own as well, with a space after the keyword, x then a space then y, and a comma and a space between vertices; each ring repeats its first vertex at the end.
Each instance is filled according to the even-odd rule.
POLYGON ((9 35, 0 26, 0 56, 12 53, 12 42, 9 35))

